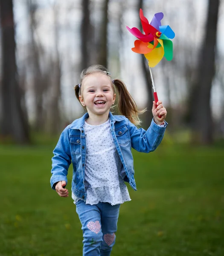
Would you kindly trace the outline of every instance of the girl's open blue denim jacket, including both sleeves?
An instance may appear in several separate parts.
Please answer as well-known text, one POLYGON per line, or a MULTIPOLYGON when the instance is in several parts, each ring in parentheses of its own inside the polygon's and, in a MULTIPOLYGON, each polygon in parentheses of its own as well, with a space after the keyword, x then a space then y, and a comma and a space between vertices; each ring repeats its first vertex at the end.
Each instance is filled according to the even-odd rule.
MULTIPOLYGON (((120 175, 134 190, 137 190, 131 148, 145 153, 154 151, 163 139, 167 123, 165 122, 165 127, 160 127, 152 120, 150 127, 145 131, 143 128, 137 128, 125 116, 113 116, 110 112, 109 117, 113 142, 122 162, 120 175)), ((87 118, 88 113, 85 113, 61 133, 53 151, 50 179, 52 189, 55 189, 55 183, 58 181, 65 180, 67 183, 67 172, 72 163, 72 192, 84 201, 86 200, 84 187, 86 140, 83 126, 87 118)))

